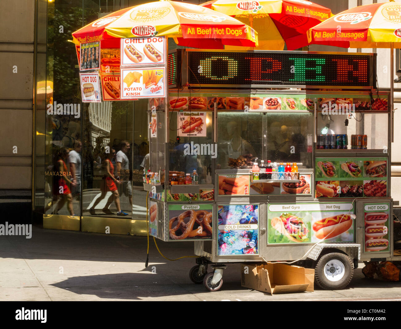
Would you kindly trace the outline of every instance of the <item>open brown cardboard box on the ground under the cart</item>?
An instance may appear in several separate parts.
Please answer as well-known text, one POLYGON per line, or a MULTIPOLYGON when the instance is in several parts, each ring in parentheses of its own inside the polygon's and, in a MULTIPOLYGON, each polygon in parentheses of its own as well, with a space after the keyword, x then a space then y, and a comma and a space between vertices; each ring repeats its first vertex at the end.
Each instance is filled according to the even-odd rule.
POLYGON ((314 278, 313 269, 300 266, 280 263, 241 266, 241 286, 270 294, 313 291, 314 278))

